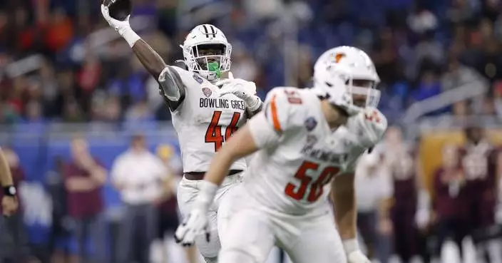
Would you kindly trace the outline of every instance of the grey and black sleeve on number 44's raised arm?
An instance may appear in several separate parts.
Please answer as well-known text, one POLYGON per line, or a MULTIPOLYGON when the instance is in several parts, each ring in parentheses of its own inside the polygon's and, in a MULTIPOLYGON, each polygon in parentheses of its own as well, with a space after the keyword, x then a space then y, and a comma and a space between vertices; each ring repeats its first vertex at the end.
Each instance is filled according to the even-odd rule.
MULTIPOLYGON (((182 70, 179 68, 179 70, 182 70)), ((185 99, 185 83, 183 83, 178 67, 166 66, 158 77, 160 93, 170 110, 176 110, 185 99)))

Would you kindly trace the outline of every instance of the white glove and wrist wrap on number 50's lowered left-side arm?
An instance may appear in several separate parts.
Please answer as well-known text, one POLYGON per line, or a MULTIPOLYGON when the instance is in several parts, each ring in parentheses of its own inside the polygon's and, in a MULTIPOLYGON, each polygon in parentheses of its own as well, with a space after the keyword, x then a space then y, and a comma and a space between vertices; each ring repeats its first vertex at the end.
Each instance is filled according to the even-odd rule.
POLYGON ((193 203, 192 211, 175 232, 174 237, 177 243, 181 243, 183 246, 191 246, 195 242, 195 237, 200 234, 205 234, 205 238, 209 242, 208 210, 215 198, 218 187, 218 185, 206 180, 200 182, 200 191, 193 203))

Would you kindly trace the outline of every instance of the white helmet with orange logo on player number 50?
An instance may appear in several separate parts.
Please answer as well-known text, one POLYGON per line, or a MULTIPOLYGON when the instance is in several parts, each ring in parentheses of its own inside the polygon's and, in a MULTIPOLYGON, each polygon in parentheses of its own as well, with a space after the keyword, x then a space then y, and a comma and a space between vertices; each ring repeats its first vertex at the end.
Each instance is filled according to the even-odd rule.
POLYGON ((376 108, 380 78, 367 53, 352 46, 339 46, 324 52, 314 65, 314 90, 330 103, 355 115, 364 108, 376 108))

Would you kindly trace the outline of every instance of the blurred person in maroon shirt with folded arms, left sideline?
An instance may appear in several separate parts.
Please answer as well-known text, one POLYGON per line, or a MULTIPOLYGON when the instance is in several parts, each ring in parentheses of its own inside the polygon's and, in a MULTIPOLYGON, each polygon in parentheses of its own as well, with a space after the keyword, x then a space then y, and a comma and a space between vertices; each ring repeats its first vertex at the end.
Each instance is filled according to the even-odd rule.
POLYGON ((89 153, 88 144, 80 136, 71 141, 72 160, 63 172, 68 199, 68 215, 75 226, 73 236, 78 243, 78 256, 83 262, 108 262, 106 259, 106 230, 103 223, 101 187, 106 181, 106 170, 89 153), (93 245, 93 257, 87 249, 93 245))

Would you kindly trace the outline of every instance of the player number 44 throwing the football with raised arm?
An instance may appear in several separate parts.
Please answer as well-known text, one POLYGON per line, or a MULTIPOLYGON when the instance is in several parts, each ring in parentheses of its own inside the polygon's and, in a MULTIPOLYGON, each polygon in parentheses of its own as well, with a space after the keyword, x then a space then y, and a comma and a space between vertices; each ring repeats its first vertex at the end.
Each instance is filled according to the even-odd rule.
MULTIPOLYGON (((101 5, 103 17, 133 48, 135 55, 160 83, 173 116, 183 159, 183 180, 178 187, 178 205, 184 217, 192 210, 200 190, 200 180, 208 171, 210 160, 223 143, 252 115, 262 108, 255 96, 255 83, 233 79, 230 71, 232 46, 215 26, 196 26, 181 46, 188 70, 168 66, 148 43, 130 28, 129 16, 124 21, 113 19, 108 6, 101 5), (227 79, 222 75, 229 73, 227 79)), ((196 244, 206 262, 216 262, 220 250, 217 210, 220 199, 232 185, 241 181, 244 159, 236 160, 227 171, 227 178, 208 207, 212 239, 196 237, 196 244)))

